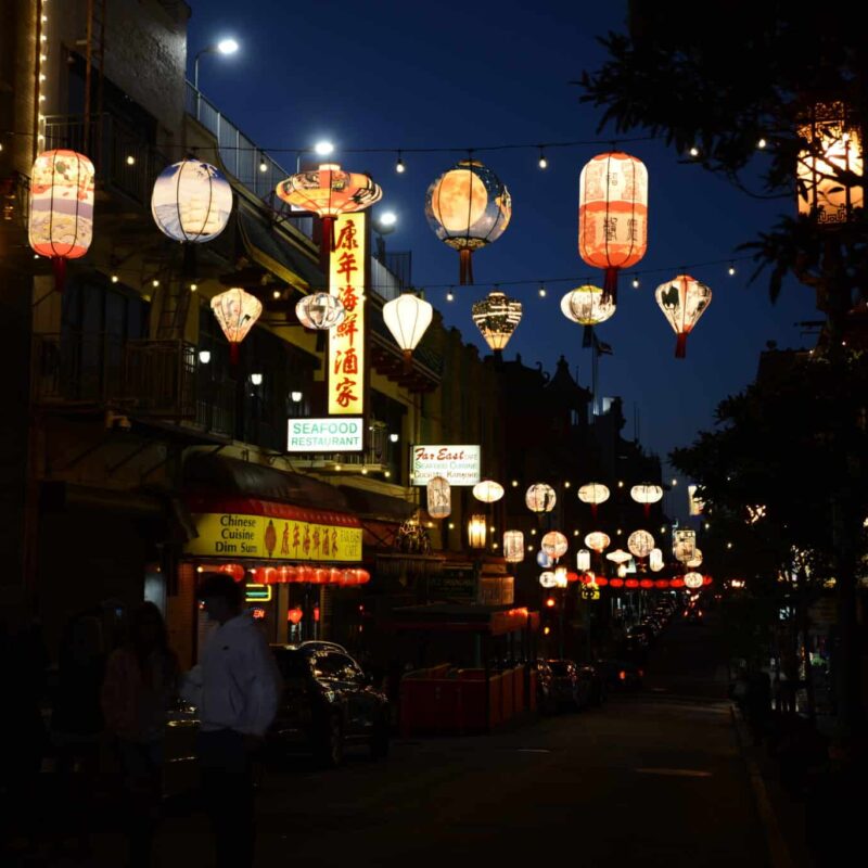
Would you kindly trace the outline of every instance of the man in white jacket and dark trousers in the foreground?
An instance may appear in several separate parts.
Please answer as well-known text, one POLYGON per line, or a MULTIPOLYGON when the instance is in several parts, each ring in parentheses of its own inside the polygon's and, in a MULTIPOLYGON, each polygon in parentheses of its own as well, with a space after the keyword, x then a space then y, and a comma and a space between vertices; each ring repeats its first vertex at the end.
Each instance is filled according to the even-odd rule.
POLYGON ((199 588, 217 622, 182 695, 199 709, 199 761, 217 868, 250 868, 255 846, 252 761, 275 719, 281 690, 271 649, 242 612, 244 587, 205 573, 199 588))

